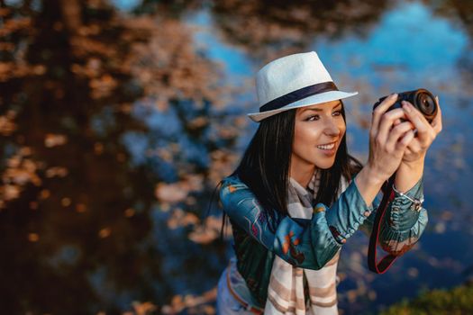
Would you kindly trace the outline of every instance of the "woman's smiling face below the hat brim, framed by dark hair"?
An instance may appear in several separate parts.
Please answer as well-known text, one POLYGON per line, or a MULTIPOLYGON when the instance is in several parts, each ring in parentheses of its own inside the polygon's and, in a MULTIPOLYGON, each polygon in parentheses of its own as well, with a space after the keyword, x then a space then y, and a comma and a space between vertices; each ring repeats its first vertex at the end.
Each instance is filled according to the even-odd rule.
POLYGON ((345 134, 340 101, 318 103, 296 110, 291 164, 330 168, 345 134))

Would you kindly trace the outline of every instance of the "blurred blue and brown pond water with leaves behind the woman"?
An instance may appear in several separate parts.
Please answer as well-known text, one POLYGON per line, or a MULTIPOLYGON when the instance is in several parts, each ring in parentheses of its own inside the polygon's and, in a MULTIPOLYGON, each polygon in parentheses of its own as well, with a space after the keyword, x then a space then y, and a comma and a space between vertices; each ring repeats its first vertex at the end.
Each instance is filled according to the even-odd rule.
POLYGON ((252 77, 309 50, 359 91, 362 161, 377 98, 424 87, 443 115, 428 229, 387 275, 350 238, 341 314, 468 283, 472 47, 468 0, 0 0, 0 313, 213 314, 232 247, 210 202, 257 128, 252 77))

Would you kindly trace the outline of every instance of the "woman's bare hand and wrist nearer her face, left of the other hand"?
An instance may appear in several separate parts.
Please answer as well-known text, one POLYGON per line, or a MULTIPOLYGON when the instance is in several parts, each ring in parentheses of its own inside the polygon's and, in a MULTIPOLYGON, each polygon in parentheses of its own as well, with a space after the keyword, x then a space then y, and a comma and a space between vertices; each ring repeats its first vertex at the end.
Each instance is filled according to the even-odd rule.
POLYGON ((403 159, 405 148, 414 139, 414 125, 402 108, 387 111, 396 103, 397 94, 389 95, 373 111, 369 129, 368 163, 355 177, 359 193, 369 205, 381 186, 393 175, 403 159), (405 121, 401 121, 401 119, 405 121))

